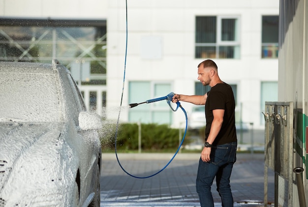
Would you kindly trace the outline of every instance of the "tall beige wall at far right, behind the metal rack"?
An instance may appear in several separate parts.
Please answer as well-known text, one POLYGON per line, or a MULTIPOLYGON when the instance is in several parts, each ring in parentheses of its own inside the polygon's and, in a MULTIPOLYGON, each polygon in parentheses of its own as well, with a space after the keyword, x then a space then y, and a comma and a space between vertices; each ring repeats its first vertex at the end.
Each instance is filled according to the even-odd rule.
MULTIPOLYGON (((280 4, 284 9, 281 10, 280 17, 281 45, 279 50, 278 101, 292 101, 294 103, 294 136, 290 138, 294 140, 294 146, 297 149, 294 149, 296 153, 293 160, 296 162, 294 165, 299 165, 299 162, 303 161, 303 168, 305 169, 303 184, 307 195, 308 149, 305 142, 308 142, 308 4, 306 0, 281 0, 280 4), (289 5, 292 5, 292 7, 289 5), (298 148, 302 148, 302 152, 298 148)), ((298 188, 295 184, 292 187, 292 205, 300 206, 299 197, 297 196, 299 194, 298 188)), ((307 204, 308 200, 306 198, 307 204)))

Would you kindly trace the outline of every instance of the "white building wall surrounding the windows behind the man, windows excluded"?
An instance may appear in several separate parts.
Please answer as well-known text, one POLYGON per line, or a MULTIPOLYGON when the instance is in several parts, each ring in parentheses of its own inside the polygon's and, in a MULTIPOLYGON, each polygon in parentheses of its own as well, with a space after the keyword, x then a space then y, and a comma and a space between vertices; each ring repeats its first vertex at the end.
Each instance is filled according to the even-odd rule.
MULTIPOLYGON (((108 2, 107 100, 113 107, 119 106, 122 93, 126 17, 124 0, 108 2)), ((130 0, 127 10, 128 49, 123 105, 129 104, 127 83, 135 80, 167 80, 173 83, 175 93, 193 94, 197 65, 203 61, 194 59, 195 16, 239 15, 241 59, 214 61, 223 81, 238 84, 243 121, 254 122, 255 128, 263 128, 260 125, 261 81, 277 81, 278 60, 261 59, 261 21, 262 15, 278 15, 278 0, 130 0), (142 58, 141 41, 146 36, 161 38, 160 59, 142 58)), ((191 104, 182 105, 190 111, 191 104)), ((128 112, 123 112, 123 120, 127 120, 125 113, 128 112)), ((181 121, 183 113, 175 113, 174 119, 181 121)))

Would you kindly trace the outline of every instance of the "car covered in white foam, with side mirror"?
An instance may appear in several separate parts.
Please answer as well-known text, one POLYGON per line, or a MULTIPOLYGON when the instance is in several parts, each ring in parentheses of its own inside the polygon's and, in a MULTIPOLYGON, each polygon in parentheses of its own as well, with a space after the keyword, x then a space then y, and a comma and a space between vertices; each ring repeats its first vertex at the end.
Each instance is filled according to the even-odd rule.
POLYGON ((0 62, 0 99, 0 207, 98 207, 102 122, 69 70, 0 62))

